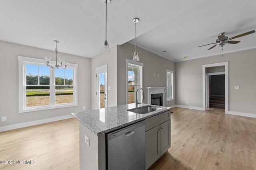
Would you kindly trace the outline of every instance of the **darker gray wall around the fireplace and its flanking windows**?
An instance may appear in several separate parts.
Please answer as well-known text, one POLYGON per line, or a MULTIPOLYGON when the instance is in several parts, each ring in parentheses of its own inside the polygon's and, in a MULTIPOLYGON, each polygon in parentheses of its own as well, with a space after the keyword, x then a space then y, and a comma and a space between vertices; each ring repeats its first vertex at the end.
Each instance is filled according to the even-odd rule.
MULTIPOLYGON (((135 46, 130 43, 117 46, 117 105, 126 104, 126 59, 132 60, 134 51, 135 46)), ((165 106, 175 105, 175 63, 139 47, 137 47, 137 52, 139 53, 139 62, 144 63, 145 100, 143 103, 148 101, 147 87, 166 87, 166 69, 168 69, 174 71, 174 100, 168 104, 165 102, 165 106), (155 77, 154 74, 156 74, 155 77)))

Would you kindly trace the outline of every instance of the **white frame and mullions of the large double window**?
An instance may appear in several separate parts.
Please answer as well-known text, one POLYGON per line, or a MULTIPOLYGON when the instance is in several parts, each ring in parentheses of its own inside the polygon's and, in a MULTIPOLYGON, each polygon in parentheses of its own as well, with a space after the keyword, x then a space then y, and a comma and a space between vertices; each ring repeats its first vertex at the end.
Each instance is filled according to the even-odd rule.
MULTIPOLYGON (((18 56, 18 72, 19 72, 19 113, 26 113, 30 111, 40 111, 48 109, 56 109, 63 107, 78 106, 78 64, 68 63, 67 68, 73 68, 73 103, 55 104, 55 69, 50 68, 50 105, 48 106, 34 106, 26 107, 26 64, 44 65, 43 59, 35 59, 31 57, 18 56)), ((55 61, 50 61, 50 65, 54 66, 55 61)), ((40 86, 40 85, 38 85, 40 86)), ((48 85, 43 85, 48 86, 48 85)))

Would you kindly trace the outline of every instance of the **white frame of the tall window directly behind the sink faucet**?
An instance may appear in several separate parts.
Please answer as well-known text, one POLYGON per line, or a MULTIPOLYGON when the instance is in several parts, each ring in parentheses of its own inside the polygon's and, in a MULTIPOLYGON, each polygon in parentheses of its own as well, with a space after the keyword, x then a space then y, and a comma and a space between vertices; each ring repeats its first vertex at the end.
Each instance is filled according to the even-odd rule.
MULTIPOLYGON (((139 82, 140 82, 140 88, 143 88, 143 63, 140 63, 138 61, 132 61, 129 59, 126 59, 126 104, 128 104, 129 99, 128 99, 128 66, 129 65, 134 65, 136 67, 139 67, 139 82)), ((133 85, 136 86, 136 85, 133 85)), ((143 89, 144 90, 144 89, 143 89)), ((134 90, 134 96, 136 96, 135 94, 135 90, 134 90)), ((146 93, 146 91, 144 90, 144 93, 146 93)), ((144 94, 145 95, 145 94, 144 94)), ((136 98, 134 99, 136 102, 136 98)), ((142 92, 140 92, 139 98, 138 98, 138 102, 142 103, 142 92)))

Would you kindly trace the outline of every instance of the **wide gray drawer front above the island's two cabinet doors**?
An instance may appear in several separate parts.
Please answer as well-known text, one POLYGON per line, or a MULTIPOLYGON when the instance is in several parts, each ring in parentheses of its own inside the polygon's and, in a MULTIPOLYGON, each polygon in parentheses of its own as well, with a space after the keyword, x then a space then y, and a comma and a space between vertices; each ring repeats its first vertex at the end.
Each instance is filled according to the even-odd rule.
POLYGON ((150 117, 145 120, 145 131, 148 131, 149 129, 152 129, 153 127, 156 127, 157 125, 160 125, 161 123, 164 123, 165 121, 170 120, 170 110, 166 111, 164 113, 160 113, 159 115, 155 115, 153 117, 150 117))

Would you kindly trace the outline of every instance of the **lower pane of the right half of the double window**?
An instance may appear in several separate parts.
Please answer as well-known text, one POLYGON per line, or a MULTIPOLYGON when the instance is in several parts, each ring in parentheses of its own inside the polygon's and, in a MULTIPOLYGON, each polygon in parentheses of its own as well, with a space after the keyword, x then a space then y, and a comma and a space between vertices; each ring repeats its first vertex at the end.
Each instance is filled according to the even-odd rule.
POLYGON ((73 87, 56 86, 55 103, 56 104, 73 103, 73 87))

